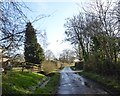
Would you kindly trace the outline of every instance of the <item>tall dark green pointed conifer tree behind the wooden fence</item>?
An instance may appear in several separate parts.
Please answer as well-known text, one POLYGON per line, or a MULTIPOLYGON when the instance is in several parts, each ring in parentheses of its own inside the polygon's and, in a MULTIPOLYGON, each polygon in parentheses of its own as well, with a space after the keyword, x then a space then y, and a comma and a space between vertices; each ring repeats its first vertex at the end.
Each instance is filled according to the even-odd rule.
POLYGON ((26 62, 40 64, 44 59, 43 49, 37 43, 36 30, 31 22, 27 23, 25 29, 24 51, 26 62))

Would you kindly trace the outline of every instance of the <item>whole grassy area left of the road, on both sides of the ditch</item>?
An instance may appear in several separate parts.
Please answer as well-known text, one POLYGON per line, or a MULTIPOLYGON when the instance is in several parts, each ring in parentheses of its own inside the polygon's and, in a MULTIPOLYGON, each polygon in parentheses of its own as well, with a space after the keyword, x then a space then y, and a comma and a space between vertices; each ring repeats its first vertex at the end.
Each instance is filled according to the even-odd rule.
POLYGON ((49 82, 44 87, 40 87, 38 82, 42 81, 45 75, 29 71, 23 73, 21 71, 9 71, 2 76, 2 94, 3 96, 55 94, 60 74, 50 73, 47 77, 50 77, 49 82))

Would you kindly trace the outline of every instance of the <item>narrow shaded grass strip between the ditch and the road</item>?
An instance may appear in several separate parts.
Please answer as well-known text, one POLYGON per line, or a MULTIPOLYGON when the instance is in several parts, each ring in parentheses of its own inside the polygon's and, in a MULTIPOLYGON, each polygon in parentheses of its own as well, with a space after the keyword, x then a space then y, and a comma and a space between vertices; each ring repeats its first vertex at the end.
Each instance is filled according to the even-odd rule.
POLYGON ((59 73, 55 73, 45 87, 37 88, 36 94, 54 94, 59 84, 59 73))

